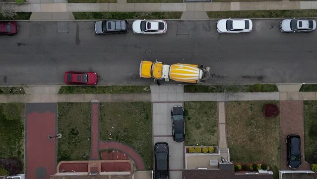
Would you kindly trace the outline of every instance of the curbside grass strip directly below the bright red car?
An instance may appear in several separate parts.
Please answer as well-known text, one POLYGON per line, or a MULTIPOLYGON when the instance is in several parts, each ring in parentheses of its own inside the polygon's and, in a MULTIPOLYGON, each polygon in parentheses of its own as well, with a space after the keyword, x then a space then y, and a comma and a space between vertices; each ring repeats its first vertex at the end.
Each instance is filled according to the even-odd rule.
POLYGON ((62 86, 59 94, 150 93, 149 86, 62 86))

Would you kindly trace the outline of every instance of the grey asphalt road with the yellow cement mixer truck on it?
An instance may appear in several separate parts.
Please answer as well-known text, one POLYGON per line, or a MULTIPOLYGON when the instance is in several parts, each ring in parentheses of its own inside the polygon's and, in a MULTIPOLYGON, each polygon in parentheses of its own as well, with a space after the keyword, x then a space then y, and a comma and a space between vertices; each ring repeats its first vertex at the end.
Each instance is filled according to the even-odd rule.
POLYGON ((209 84, 317 83, 317 32, 281 33, 272 19, 253 20, 250 33, 219 34, 216 22, 106 36, 95 35, 93 21, 18 22, 18 35, 0 37, 0 85, 63 84, 68 70, 97 72, 99 84, 154 84, 139 78, 139 63, 156 59, 209 66, 209 84))

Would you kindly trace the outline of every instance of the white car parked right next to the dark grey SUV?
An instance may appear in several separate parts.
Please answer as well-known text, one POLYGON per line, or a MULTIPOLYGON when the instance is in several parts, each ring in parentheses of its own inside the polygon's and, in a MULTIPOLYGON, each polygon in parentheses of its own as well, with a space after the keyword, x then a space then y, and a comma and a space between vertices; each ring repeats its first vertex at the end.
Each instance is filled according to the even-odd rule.
POLYGON ((135 20, 132 30, 136 34, 163 34, 166 33, 167 24, 164 20, 135 20))

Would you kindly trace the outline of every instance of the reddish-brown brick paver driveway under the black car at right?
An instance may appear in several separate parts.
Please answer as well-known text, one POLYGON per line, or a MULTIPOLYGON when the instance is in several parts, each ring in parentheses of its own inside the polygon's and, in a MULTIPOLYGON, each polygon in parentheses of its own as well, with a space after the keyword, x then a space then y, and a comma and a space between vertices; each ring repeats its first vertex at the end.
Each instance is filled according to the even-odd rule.
POLYGON ((310 170, 304 161, 304 108, 303 101, 280 101, 280 145, 281 145, 281 170, 291 170, 286 165, 285 139, 289 134, 301 137, 302 166, 296 170, 310 170))

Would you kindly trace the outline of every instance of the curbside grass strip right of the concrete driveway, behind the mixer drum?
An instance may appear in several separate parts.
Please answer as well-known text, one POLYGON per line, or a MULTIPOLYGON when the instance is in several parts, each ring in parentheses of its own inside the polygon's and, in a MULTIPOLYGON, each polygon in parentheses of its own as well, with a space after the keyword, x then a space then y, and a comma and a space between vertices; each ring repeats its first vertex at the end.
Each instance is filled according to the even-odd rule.
POLYGON ((276 85, 185 85, 184 92, 276 92, 276 85))

